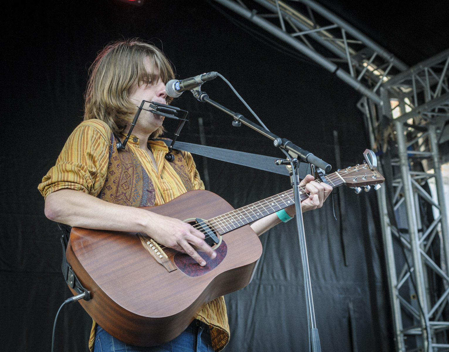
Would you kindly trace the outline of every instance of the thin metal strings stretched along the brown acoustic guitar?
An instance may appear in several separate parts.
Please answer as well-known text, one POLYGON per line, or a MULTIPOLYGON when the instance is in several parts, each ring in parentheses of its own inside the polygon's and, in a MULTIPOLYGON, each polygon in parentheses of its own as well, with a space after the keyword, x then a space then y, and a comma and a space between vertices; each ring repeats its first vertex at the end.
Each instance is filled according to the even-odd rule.
MULTIPOLYGON (((355 168, 354 168, 354 169, 350 169, 350 170, 344 169, 344 170, 340 170, 340 172, 342 172, 343 175, 340 174, 340 172, 337 171, 337 172, 334 172, 334 173, 330 174, 329 176, 324 176, 324 177, 326 178, 326 181, 332 183, 332 185, 335 186, 335 183, 334 183, 333 181, 336 181, 336 180, 342 180, 342 179, 343 179, 343 180, 346 182, 347 179, 351 179, 351 178, 352 178, 352 176, 346 176, 346 175, 348 175, 348 174, 350 174, 350 173, 352 173, 352 172, 359 172, 359 171, 362 171, 362 170, 363 170, 363 167, 361 167, 361 168, 359 168, 359 169, 355 169, 355 168)), ((371 171, 371 170, 370 170, 370 171, 371 171)), ((374 174, 374 172, 373 172, 372 174, 374 174)), ((366 176, 372 176, 372 175, 366 175, 366 176)), ((316 182, 321 183, 322 181, 321 181, 321 180, 316 180, 316 182)), ((356 181, 356 182, 357 182, 357 181, 356 181)), ((306 184, 305 184, 305 185, 299 186, 299 190, 300 190, 300 191, 303 191, 303 193, 300 192, 300 198, 302 198, 303 196, 307 196, 307 197, 308 197, 308 194, 307 194, 306 192, 304 192, 304 191, 305 191, 305 188, 306 188, 306 184)), ((283 193, 281 193, 281 194, 276 194, 276 195, 274 195, 274 196, 272 196, 272 197, 269 197, 269 198, 271 198, 271 199, 276 203, 276 206, 275 206, 275 207, 280 207, 280 206, 278 205, 278 201, 284 202, 284 204, 286 205, 286 207, 288 207, 289 204, 287 204, 287 203, 284 201, 284 199, 282 199, 282 197, 287 196, 287 199, 290 199, 290 201, 294 201, 294 199, 292 198, 292 193, 293 193, 293 189, 290 189, 290 190, 288 190, 288 191, 286 191, 286 192, 283 192, 283 193)), ((239 227, 241 227, 241 226, 243 226, 243 225, 249 224, 250 222, 259 219, 258 215, 260 215, 261 213, 263 214, 263 211, 267 211, 267 209, 264 207, 264 205, 262 205, 262 202, 266 202, 266 203, 269 205, 269 207, 272 208, 272 210, 273 210, 273 212, 274 212, 275 209, 274 209, 274 208, 272 207, 272 205, 270 205, 269 202, 268 202, 268 199, 269 199, 269 198, 265 198, 265 199, 261 200, 260 202, 257 202, 258 204, 252 203, 252 204, 247 205, 247 206, 245 206, 245 207, 241 207, 241 208, 235 209, 235 210, 230 211, 230 212, 228 212, 228 213, 226 213, 226 214, 223 214, 223 215, 220 215, 220 216, 216 216, 215 218, 212 218, 212 219, 209 219, 209 220, 205 220, 205 221, 203 221, 203 222, 212 225, 214 228, 218 227, 221 231, 223 231, 223 232, 221 233, 221 232, 219 232, 219 231, 217 231, 217 230, 215 230, 215 229, 212 230, 216 235, 217 235, 217 234, 218 234, 218 235, 225 234, 225 233, 227 233, 227 232, 229 232, 229 231, 232 231, 232 230, 234 230, 234 229, 237 229, 237 228, 239 228, 239 227), (259 207, 261 207, 263 210, 260 210, 259 207), (252 219, 253 216, 251 216, 245 208, 249 209, 249 210, 254 214, 254 216, 256 217, 255 220, 252 219), (256 209, 257 213, 255 213, 255 212, 252 210, 252 209, 254 209, 254 208, 256 209), (234 218, 233 218, 233 216, 236 215, 236 212, 242 214, 242 211, 246 212, 247 215, 249 215, 249 218, 251 218, 251 221, 247 221, 247 217, 245 217, 245 216, 244 216, 243 218, 244 218, 244 220, 247 221, 246 223, 244 223, 243 220, 240 220, 239 218, 237 218, 237 219, 234 219, 234 218), (232 214, 232 213, 233 213, 233 214, 232 214), (228 215, 230 216, 231 221, 229 221, 228 215), (223 219, 223 216, 225 216, 227 219, 223 219), (222 219, 219 219, 220 217, 221 217, 222 219), (223 224, 223 226, 220 225, 219 222, 218 222, 217 220, 220 221, 220 223, 223 224), (240 221, 242 224, 239 225, 239 224, 238 224, 238 221, 240 221), (214 223, 215 223, 215 226, 214 226, 214 223), (237 223, 237 224, 236 224, 236 223, 237 223), (232 228, 232 226, 234 226, 234 227, 232 228), (226 228, 230 228, 230 229, 226 229, 226 228)), ((301 199, 301 202, 302 202, 303 200, 305 200, 305 199, 306 199, 306 198, 301 199)), ((289 201, 289 202, 290 202, 290 201, 289 201)), ((273 204, 273 203, 272 203, 272 204, 273 204)), ((280 209, 283 209, 283 208, 285 208, 285 207, 280 207, 280 209)), ((270 214, 269 211, 268 211, 268 213, 270 214)), ((269 215, 269 214, 267 214, 267 215, 269 215)), ((242 216, 243 216, 243 215, 241 215, 240 218, 241 218, 242 216)), ((266 215, 265 215, 265 216, 266 216, 266 215)), ((262 217, 264 217, 264 216, 262 216, 262 217)), ((208 238, 211 237, 211 236, 207 233, 207 231, 204 230, 204 229, 202 228, 202 225, 201 225, 201 224, 195 224, 193 227, 194 227, 194 229, 197 229, 198 231, 202 232, 202 233, 204 234, 204 236, 205 236, 205 239, 208 239, 208 238)), ((156 241, 153 241, 153 242, 157 243, 156 241)), ((158 244, 158 245, 159 245, 159 244, 158 244)), ((171 247, 167 247, 167 246, 161 246, 161 245, 159 245, 159 248, 161 248, 161 250, 165 250, 165 249, 166 249, 165 252, 176 251, 175 249, 173 249, 173 248, 171 248, 171 247)), ((176 252, 177 252, 177 251, 176 251, 176 252)))

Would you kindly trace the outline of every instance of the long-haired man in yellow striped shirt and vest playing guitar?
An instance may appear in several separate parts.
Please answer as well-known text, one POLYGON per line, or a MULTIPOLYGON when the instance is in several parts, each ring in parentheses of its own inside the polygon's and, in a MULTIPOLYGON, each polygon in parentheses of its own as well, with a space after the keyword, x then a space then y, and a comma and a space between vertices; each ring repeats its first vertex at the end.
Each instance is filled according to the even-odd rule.
MULTIPOLYGON (((164 118, 142 110, 125 150, 123 141, 142 100, 169 102, 165 84, 174 74, 158 48, 139 40, 115 42, 104 48, 90 69, 84 121, 69 136, 56 165, 39 185, 45 197, 48 219, 86 229, 142 232, 155 241, 190 255, 199 265, 216 253, 204 234, 181 220, 139 207, 158 206, 193 189, 204 189, 191 154, 174 151, 175 160, 164 156, 168 148, 154 140, 163 132, 164 118), (114 136, 115 135, 115 136, 114 136)), ((319 208, 332 191, 329 185, 306 176, 309 198, 302 211, 319 208)), ((260 235, 295 214, 273 213, 251 224, 260 235)), ((279 212, 278 212, 279 213, 279 212)), ((91 351, 220 351, 228 343, 229 325, 223 297, 209 302, 178 337, 155 347, 136 347, 108 334, 95 322, 91 351)))

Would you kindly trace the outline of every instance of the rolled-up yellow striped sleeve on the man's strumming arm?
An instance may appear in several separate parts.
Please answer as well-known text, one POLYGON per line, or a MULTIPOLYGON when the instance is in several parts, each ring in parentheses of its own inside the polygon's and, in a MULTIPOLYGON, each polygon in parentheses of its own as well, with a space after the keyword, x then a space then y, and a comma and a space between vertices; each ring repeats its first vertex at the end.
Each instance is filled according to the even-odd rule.
POLYGON ((97 196, 106 180, 109 135, 102 121, 82 122, 67 139, 56 165, 42 179, 40 193, 47 197, 59 189, 74 189, 97 196))

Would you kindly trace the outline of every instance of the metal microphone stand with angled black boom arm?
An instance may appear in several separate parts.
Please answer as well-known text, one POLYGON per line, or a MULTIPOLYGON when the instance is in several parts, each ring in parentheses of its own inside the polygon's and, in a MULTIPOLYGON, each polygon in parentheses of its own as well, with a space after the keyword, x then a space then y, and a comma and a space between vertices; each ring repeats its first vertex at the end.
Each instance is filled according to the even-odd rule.
POLYGON ((192 89, 191 92, 194 94, 194 97, 201 101, 201 102, 207 102, 216 108, 220 109, 221 111, 224 111, 225 113, 231 115, 234 119, 233 126, 240 127, 243 123, 244 125, 252 128, 253 130, 259 132, 260 134, 268 137, 273 141, 273 144, 275 147, 280 148, 284 153, 288 153, 290 158, 283 161, 284 163, 290 163, 291 170, 290 172, 290 180, 291 185, 293 187, 293 194, 295 199, 295 209, 296 209, 296 226, 298 228, 298 237, 299 237, 299 248, 301 251, 301 260, 303 263, 303 274, 304 274, 304 288, 306 289, 306 304, 308 308, 307 312, 307 321, 308 321, 308 329, 309 329, 309 351, 312 352, 321 352, 321 346, 320 346, 320 337, 318 334, 318 329, 315 321, 315 311, 313 309, 313 296, 312 296, 312 285, 310 282, 310 272, 309 272, 309 266, 308 266, 308 258, 307 258, 307 248, 306 248, 306 238, 305 238, 305 232, 304 232, 304 220, 303 220, 303 213, 301 211, 301 199, 299 195, 299 163, 298 163, 298 157, 300 157, 302 160, 304 160, 307 163, 314 164, 317 167, 320 167, 322 170, 325 170, 326 173, 330 172, 331 166, 330 164, 324 162, 320 158, 317 158, 312 153, 308 152, 307 150, 304 150, 302 148, 299 148, 297 145, 294 145, 291 141, 286 140, 285 138, 280 138, 273 134, 272 132, 269 132, 265 128, 262 128, 256 123, 253 123, 252 121, 246 119, 243 117, 242 114, 233 112, 232 110, 229 110, 225 106, 222 106, 221 104, 217 103, 216 101, 213 101, 209 98, 206 92, 202 92, 200 90, 201 86, 199 85, 198 88, 192 89))

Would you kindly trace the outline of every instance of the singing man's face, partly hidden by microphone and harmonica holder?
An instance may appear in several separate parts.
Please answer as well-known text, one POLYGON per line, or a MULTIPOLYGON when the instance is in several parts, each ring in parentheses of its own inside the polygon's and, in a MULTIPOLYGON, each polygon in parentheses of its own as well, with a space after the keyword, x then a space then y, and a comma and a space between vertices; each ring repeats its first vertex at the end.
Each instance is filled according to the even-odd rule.
MULTIPOLYGON (((150 59, 148 57, 145 57, 144 63, 148 72, 153 71, 158 74, 158 72, 155 72, 153 67, 151 67, 150 59)), ((157 82, 141 83, 140 86, 136 85, 129 94, 129 99, 133 104, 136 104, 136 106, 140 106, 142 100, 166 104, 166 97, 165 84, 160 79, 158 79, 157 82)), ((148 103, 145 103, 144 108, 148 109, 148 103)), ((141 110, 134 131, 150 135, 162 125, 163 120, 163 116, 155 115, 150 113, 150 111, 141 110)))

